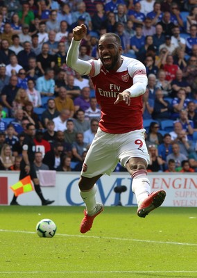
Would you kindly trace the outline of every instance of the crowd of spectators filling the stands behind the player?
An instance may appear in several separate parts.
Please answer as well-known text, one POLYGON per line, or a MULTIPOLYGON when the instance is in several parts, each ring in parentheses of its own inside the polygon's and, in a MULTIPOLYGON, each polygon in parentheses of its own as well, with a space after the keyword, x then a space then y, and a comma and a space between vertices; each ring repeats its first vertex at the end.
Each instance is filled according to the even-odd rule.
MULTIPOLYGON (((99 126, 94 86, 66 64, 72 29, 86 24, 79 58, 98 58, 103 33, 146 66, 143 95, 151 172, 197 172, 197 6, 193 0, 0 1, 0 169, 19 170, 35 124, 36 170, 78 171, 99 126), (169 126, 164 126, 168 122, 169 126)), ((115 124, 115 123, 114 123, 115 124)), ((124 171, 117 165, 115 171, 124 171)))

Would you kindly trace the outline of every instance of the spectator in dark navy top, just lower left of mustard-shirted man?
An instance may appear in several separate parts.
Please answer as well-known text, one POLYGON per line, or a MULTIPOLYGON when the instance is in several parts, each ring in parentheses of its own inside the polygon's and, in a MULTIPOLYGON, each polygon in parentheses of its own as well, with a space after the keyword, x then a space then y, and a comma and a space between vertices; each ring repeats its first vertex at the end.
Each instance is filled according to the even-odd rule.
POLYGON ((53 120, 55 117, 58 117, 60 113, 55 108, 54 99, 48 99, 46 111, 42 113, 42 124, 46 127, 49 120, 53 120))

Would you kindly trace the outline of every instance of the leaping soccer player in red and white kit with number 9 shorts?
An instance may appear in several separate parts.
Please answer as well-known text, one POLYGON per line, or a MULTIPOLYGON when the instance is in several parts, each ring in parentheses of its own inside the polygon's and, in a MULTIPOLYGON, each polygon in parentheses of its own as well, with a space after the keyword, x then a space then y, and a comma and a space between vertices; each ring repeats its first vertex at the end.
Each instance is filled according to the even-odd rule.
POLYGON ((69 67, 91 77, 101 106, 99 129, 85 157, 78 183, 86 205, 80 224, 83 234, 91 229, 94 218, 103 211, 103 204, 96 202, 95 183, 103 174, 110 174, 119 161, 132 177, 139 217, 145 218, 166 196, 164 190, 151 193, 146 172, 150 159, 142 123, 146 69, 138 60, 121 56, 121 40, 114 33, 101 36, 99 60, 80 60, 78 47, 86 32, 83 24, 73 29, 74 38, 67 54, 69 67))

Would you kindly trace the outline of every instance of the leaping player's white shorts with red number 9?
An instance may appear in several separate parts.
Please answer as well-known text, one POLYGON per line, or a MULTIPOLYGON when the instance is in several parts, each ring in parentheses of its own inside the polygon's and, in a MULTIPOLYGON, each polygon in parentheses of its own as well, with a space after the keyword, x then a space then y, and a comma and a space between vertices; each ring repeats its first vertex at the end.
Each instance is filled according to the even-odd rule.
POLYGON ((99 174, 110 175, 117 163, 120 162, 123 167, 126 167, 126 163, 132 157, 144 158, 148 164, 150 157, 144 140, 145 131, 140 129, 123 134, 112 134, 98 129, 85 157, 81 175, 87 178, 99 174))

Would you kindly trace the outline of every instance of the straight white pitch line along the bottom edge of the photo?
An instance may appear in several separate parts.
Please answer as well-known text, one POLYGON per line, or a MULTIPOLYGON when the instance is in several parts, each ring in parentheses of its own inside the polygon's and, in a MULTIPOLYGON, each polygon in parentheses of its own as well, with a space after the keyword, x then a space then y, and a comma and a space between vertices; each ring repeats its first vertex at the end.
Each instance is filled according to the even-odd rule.
POLYGON ((114 270, 114 271, 0 271, 0 274, 12 274, 12 273, 26 273, 26 274, 34 274, 34 273, 197 273, 195 270, 151 270, 151 271, 135 271, 135 270, 114 270))

